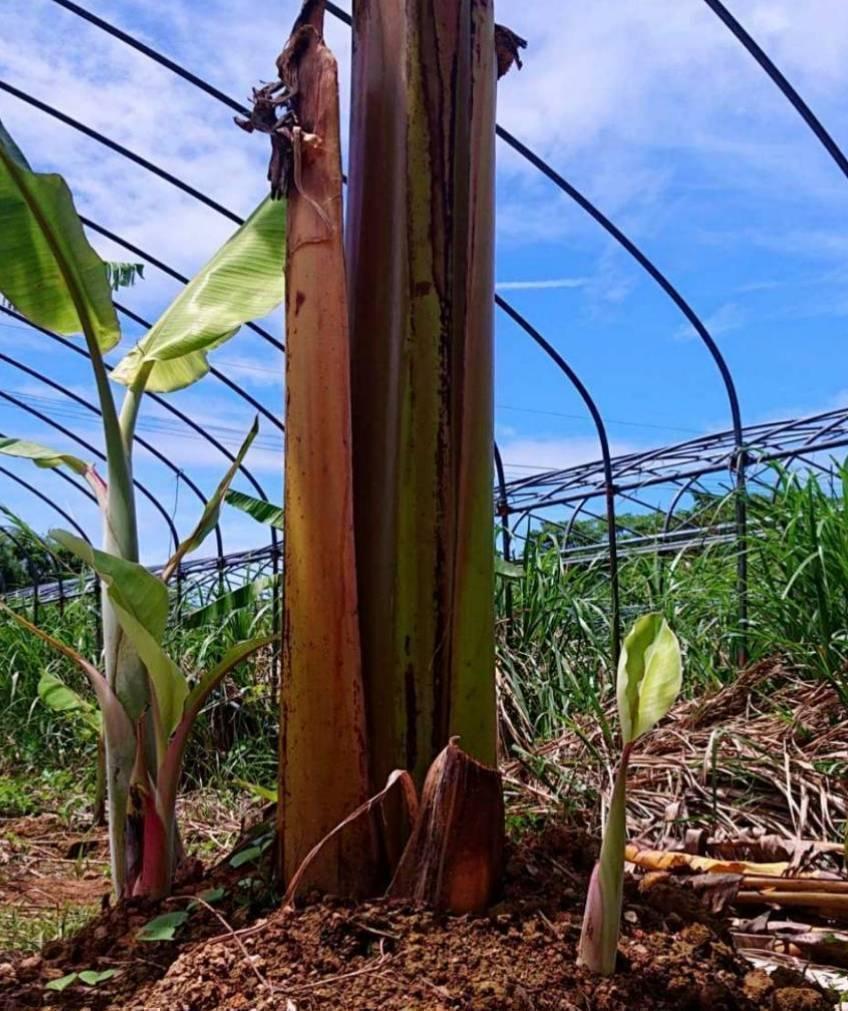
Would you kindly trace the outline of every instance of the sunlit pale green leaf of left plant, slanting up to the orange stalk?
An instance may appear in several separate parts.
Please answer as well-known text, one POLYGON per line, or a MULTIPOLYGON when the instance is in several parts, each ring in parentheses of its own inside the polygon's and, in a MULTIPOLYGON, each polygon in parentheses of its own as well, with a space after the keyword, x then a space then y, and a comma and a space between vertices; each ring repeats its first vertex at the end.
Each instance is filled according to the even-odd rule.
POLYGON ((118 363, 112 378, 128 385, 153 362, 146 388, 169 392, 204 376, 209 351, 282 302, 285 232, 285 201, 266 198, 118 363))

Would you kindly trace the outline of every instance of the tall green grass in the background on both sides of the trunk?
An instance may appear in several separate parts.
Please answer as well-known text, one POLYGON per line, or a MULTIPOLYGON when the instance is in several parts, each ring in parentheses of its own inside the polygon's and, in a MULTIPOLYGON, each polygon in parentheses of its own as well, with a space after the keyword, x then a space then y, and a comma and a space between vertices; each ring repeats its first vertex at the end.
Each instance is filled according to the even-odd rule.
MULTIPOLYGON (((752 496, 749 504, 751 658, 779 653, 802 674, 832 682, 848 703, 848 467, 837 468, 833 478, 776 470, 773 493, 752 496)), ((715 504, 717 522, 727 505, 715 504)), ((623 520, 646 526, 644 517, 623 520)), ((562 548, 553 529, 530 538, 521 574, 509 579, 508 614, 505 582, 497 595, 503 737, 510 746, 529 748, 551 738, 578 715, 593 717, 610 733, 604 715, 614 684, 607 565, 603 559, 568 562, 562 548)), ((735 674, 735 552, 732 544, 714 543, 622 562, 624 622, 646 611, 665 615, 683 648, 689 696, 735 674)), ((247 594, 245 606, 200 610, 217 592, 216 584, 195 592, 170 631, 169 649, 188 676, 233 642, 271 628, 270 586, 247 594), (192 612, 201 620, 192 620, 192 612)), ((42 607, 39 621, 96 658, 90 595, 68 602, 64 613, 55 605, 42 607)), ((45 666, 86 693, 77 672, 2 620, 0 656, 0 774, 75 763, 93 768, 91 734, 37 698, 45 666)), ((202 715, 187 758, 188 785, 237 777, 272 783, 277 722, 272 658, 260 655, 227 680, 202 715)))

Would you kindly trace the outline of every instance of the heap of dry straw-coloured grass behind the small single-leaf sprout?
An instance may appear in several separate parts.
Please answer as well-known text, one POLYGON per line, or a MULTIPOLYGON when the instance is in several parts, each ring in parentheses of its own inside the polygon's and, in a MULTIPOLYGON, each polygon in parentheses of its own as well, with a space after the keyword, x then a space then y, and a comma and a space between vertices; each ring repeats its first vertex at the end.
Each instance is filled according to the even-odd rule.
MULTIPOLYGON (((510 809, 573 811, 584 826, 589 809, 596 831, 613 760, 600 721, 577 718, 505 766, 510 809)), ((702 829, 710 855, 745 859, 748 846, 757 860, 769 859, 764 847, 777 856, 776 843, 763 841, 777 836, 787 840, 777 859, 803 865, 815 855, 817 865, 838 867, 846 784, 848 712, 835 688, 795 676, 779 658, 763 660, 712 698, 679 703, 634 751, 628 835, 684 850, 687 832, 702 829)))

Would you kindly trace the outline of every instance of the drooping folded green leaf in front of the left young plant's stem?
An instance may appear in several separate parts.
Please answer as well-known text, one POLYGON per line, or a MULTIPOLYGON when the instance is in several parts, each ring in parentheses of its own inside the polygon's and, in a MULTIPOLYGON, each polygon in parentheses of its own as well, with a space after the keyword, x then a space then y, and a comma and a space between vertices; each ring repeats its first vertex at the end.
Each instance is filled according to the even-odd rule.
POLYGON ((185 676, 162 648, 168 620, 168 587, 144 565, 92 548, 64 530, 50 536, 90 565, 106 586, 120 627, 148 669, 164 741, 179 723, 188 696, 185 676))

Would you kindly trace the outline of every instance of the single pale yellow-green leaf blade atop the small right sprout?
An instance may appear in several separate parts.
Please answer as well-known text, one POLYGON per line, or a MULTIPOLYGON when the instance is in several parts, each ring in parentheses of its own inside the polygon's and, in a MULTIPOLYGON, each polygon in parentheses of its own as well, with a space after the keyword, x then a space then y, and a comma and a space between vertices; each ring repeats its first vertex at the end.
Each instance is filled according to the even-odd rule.
POLYGON ((681 682, 677 637, 662 615, 644 615, 626 637, 619 660, 619 718, 625 744, 641 737, 665 716, 681 682))

